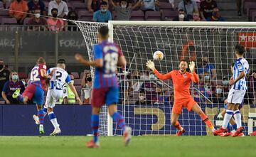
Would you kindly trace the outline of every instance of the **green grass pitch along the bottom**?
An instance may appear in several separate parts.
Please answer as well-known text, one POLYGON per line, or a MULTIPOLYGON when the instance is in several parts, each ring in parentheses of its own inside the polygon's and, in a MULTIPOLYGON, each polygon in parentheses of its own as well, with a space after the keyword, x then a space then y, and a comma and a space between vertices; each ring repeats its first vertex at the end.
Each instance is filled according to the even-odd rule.
POLYGON ((256 137, 135 136, 100 137, 100 148, 85 148, 88 136, 0 136, 0 156, 256 156, 256 137))

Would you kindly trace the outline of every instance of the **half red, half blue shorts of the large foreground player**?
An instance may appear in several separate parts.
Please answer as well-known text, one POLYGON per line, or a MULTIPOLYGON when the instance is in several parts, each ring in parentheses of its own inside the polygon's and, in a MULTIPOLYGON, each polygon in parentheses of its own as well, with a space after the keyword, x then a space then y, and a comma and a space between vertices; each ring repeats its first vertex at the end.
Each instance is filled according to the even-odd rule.
POLYGON ((119 98, 118 87, 105 87, 92 89, 92 107, 102 107, 107 104, 117 104, 119 98))

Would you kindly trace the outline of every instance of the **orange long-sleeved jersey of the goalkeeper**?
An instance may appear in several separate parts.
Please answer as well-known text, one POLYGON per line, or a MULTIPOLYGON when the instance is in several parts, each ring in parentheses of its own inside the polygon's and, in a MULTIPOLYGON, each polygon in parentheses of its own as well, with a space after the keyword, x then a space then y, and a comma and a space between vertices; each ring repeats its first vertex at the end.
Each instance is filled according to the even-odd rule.
POLYGON ((191 80, 196 83, 199 82, 196 72, 185 72, 181 74, 178 70, 172 70, 171 72, 163 75, 155 69, 154 73, 160 80, 172 79, 174 84, 174 99, 187 99, 191 97, 189 92, 191 80))

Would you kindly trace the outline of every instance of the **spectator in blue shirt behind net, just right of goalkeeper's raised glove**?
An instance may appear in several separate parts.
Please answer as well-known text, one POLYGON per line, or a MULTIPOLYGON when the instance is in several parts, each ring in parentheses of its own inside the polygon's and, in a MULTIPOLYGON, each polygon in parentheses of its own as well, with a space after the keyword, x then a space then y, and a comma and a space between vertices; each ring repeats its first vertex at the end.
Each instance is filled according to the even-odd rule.
POLYGON ((203 77, 204 72, 210 73, 210 78, 212 80, 216 79, 216 70, 213 64, 209 63, 208 57, 203 57, 203 66, 198 68, 198 75, 200 78, 203 77))

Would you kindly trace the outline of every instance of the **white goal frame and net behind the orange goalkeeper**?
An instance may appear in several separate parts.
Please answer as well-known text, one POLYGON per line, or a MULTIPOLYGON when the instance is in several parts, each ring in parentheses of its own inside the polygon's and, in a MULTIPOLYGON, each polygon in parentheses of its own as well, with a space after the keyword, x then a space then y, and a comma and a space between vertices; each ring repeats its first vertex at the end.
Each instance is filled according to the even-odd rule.
MULTIPOLYGON (((191 95, 209 119, 218 128, 223 121, 224 100, 227 98, 228 80, 232 76, 230 65, 235 60, 235 45, 245 45, 245 58, 250 64, 247 76, 248 90, 241 109, 246 134, 255 130, 255 80, 256 32, 255 23, 208 23, 165 21, 110 21, 109 23, 87 23, 75 21, 87 44, 89 59, 93 58, 92 46, 97 44, 97 28, 109 25, 110 40, 120 46, 127 59, 127 66, 118 69, 118 110, 124 121, 132 126, 137 135, 175 134, 171 126, 171 109, 174 89, 171 80, 161 81, 145 66, 153 60, 153 53, 161 50, 164 60, 154 61, 161 73, 178 68, 179 60, 194 61, 199 84, 191 83, 191 95), (242 24, 242 26, 241 26, 242 24)), ((93 67, 91 67, 93 72, 93 67)), ((107 118, 107 109, 102 110, 100 133, 121 135, 121 129, 107 118), (108 120, 107 120, 108 119, 108 120), (109 129, 107 129, 109 128, 109 129)), ((206 125, 194 112, 183 109, 180 124, 185 135, 210 135, 206 125)))

